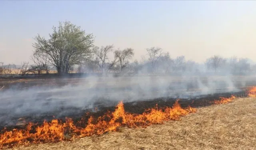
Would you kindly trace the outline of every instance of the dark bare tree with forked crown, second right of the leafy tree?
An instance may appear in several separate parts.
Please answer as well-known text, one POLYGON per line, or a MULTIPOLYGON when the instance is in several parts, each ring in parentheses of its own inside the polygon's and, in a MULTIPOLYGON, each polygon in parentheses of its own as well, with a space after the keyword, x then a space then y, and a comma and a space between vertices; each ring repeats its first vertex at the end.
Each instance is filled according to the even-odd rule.
POLYGON ((134 56, 134 50, 132 48, 126 48, 124 50, 116 50, 114 52, 115 59, 120 64, 120 72, 129 64, 128 60, 134 56))

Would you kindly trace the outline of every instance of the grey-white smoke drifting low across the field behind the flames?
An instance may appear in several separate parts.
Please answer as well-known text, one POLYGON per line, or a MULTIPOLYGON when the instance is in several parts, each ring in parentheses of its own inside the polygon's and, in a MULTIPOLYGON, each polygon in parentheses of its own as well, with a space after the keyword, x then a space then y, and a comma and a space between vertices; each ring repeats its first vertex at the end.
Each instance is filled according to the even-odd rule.
MULTIPOLYGON (((164 66, 164 64, 162 64, 164 66)), ((254 76, 233 76, 222 70, 225 76, 216 72, 205 72, 195 67, 182 70, 174 75, 144 74, 144 66, 134 76, 96 77, 81 79, 77 86, 60 88, 9 89, 0 92, 0 124, 11 125, 12 118, 40 116, 58 112, 65 116, 74 112, 100 106, 113 106, 119 101, 132 102, 154 98, 196 98, 218 92, 236 92, 248 86, 254 76), (190 69, 190 70, 189 70, 190 69), (197 73, 191 73, 191 69, 197 73)), ((72 80, 72 79, 70 79, 72 80)))

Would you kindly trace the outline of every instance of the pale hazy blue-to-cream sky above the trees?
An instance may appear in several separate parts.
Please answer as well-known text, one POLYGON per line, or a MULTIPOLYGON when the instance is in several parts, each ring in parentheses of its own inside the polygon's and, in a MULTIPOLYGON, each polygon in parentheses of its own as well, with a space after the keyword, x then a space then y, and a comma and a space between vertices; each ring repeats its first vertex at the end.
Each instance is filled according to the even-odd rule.
POLYGON ((33 38, 65 20, 93 33, 97 46, 134 48, 136 59, 159 46, 196 62, 214 54, 255 61, 255 8, 253 0, 0 0, 0 62, 29 61, 33 38))

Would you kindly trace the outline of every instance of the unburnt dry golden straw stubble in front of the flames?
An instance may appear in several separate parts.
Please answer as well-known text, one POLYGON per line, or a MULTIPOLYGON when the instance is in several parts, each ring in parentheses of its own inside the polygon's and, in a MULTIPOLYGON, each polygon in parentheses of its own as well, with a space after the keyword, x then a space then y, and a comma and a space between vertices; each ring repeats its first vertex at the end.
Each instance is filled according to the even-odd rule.
POLYGON ((16 150, 256 150, 256 98, 199 108, 180 121, 16 150))

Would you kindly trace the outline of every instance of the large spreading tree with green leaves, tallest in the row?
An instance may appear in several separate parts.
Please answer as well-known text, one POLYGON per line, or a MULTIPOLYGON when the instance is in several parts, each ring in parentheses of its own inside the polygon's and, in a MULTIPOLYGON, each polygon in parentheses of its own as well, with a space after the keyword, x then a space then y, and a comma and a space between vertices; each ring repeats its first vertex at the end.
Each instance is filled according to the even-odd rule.
POLYGON ((72 66, 91 58, 94 46, 92 34, 86 34, 80 26, 69 21, 59 22, 58 28, 52 29, 48 40, 39 34, 36 36, 34 54, 46 56, 59 74, 68 73, 72 66))

